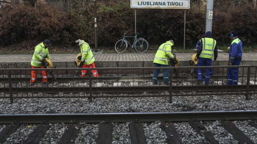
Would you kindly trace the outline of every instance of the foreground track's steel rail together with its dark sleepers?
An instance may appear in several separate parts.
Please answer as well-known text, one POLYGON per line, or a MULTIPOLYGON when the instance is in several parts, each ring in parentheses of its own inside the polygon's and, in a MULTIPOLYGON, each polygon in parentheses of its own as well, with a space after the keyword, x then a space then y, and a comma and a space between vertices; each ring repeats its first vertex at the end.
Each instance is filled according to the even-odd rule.
MULTIPOLYGON (((181 133, 178 124, 186 123, 188 129, 202 136, 198 140, 202 143, 218 144, 220 137, 216 137, 216 132, 208 129, 206 125, 210 121, 219 121, 220 127, 224 128, 229 135, 233 136, 238 143, 254 144, 253 137, 245 135, 235 124, 239 120, 248 120, 248 125, 257 128, 257 110, 236 110, 236 111, 191 111, 191 112, 144 112, 144 113, 92 113, 92 114, 2 114, 0 115, 0 124, 7 126, 0 131, 0 143, 10 140, 14 132, 20 132, 18 129, 24 124, 36 124, 30 134, 24 138, 21 143, 40 143, 43 137, 48 133, 50 126, 54 123, 66 125, 62 136, 57 140, 59 143, 79 143, 77 137, 85 131, 83 122, 98 123, 99 129, 96 143, 112 143, 115 139, 113 134, 114 125, 125 123, 128 125, 130 133, 130 142, 132 144, 146 144, 149 141, 145 134, 149 128, 150 122, 161 129, 166 134, 166 143, 182 144, 187 143, 183 139, 185 135, 181 133), (118 122, 118 123, 116 123, 118 122), (99 124, 100 123, 100 124, 99 124), (116 124, 115 124, 116 123, 116 124), (176 124, 176 125, 175 125, 176 124), (83 128, 82 128, 83 127, 83 128)), ((183 126, 183 129, 187 129, 183 126)), ((24 126, 23 126, 24 127, 24 126)), ((93 131, 87 131, 93 132, 93 131)), ((85 133, 86 135, 90 135, 85 133)), ((155 137, 158 137, 156 135, 155 137)), ((42 143, 42 142, 41 142, 42 143)), ((158 143, 158 142, 155 142, 158 143)))

